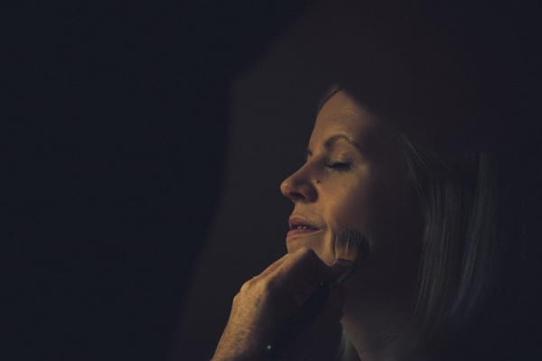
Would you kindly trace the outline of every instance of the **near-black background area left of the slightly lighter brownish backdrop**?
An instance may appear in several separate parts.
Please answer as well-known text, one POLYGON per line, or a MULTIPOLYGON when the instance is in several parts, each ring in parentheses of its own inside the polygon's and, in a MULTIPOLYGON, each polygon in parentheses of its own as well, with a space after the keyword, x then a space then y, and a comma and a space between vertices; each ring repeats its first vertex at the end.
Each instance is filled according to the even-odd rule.
POLYGON ((166 358, 220 199, 230 82, 300 9, 3 9, 5 359, 166 358))

